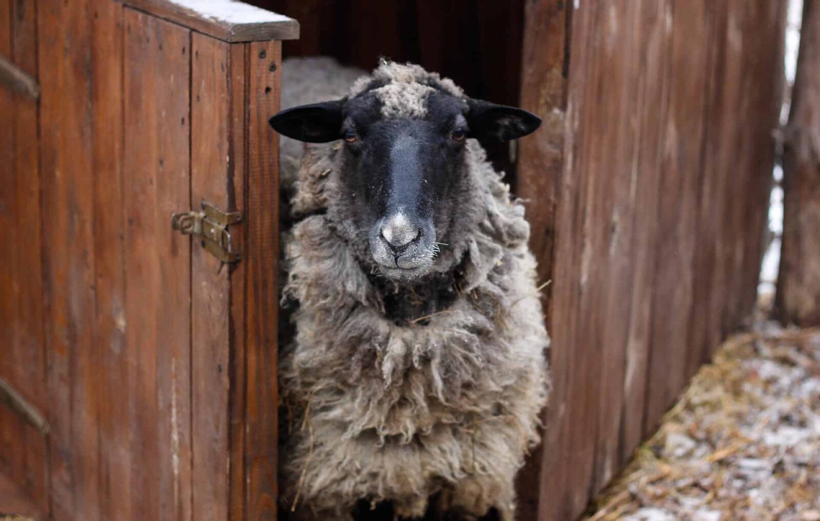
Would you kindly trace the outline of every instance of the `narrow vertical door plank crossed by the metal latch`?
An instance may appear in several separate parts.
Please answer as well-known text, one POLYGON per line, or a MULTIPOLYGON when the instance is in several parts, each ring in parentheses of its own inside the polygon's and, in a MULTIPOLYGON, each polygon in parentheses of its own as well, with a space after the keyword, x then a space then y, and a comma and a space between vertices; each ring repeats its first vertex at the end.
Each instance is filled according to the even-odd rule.
MULTIPOLYGON (((193 34, 191 65, 192 203, 227 210, 232 168, 229 129, 230 46, 193 34)), ((244 70, 244 63, 239 64, 244 70)), ((230 233, 237 233, 230 227, 230 233)), ((228 393, 230 274, 194 243, 191 254, 191 381, 194 519, 228 518, 228 393)), ((241 346, 238 346, 241 347, 241 346)))

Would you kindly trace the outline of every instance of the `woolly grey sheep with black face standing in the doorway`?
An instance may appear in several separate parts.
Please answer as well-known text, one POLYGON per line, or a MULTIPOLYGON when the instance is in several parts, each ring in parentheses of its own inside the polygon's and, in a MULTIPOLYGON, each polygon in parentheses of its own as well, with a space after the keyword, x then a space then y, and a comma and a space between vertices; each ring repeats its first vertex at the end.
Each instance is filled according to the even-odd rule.
POLYGON ((381 61, 347 97, 271 125, 316 143, 284 241, 296 329, 280 353, 287 508, 512 520, 549 337, 524 208, 480 141, 540 120, 381 61))

